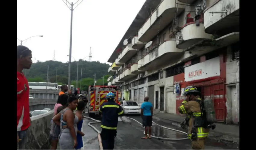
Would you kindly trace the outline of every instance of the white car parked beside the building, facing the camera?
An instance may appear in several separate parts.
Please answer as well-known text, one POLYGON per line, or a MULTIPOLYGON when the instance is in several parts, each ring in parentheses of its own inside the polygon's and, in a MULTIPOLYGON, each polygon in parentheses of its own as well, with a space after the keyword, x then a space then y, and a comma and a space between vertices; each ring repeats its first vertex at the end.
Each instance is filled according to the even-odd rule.
POLYGON ((124 114, 140 114, 140 107, 136 101, 121 101, 124 114))

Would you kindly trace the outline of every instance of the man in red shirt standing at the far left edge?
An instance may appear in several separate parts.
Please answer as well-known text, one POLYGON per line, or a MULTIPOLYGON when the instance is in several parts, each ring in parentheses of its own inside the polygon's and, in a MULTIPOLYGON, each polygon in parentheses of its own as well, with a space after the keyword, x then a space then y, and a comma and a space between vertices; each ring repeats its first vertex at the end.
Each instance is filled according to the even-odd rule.
POLYGON ((26 46, 17 46, 17 146, 19 149, 25 149, 26 133, 30 127, 29 86, 22 70, 31 67, 31 53, 26 46))

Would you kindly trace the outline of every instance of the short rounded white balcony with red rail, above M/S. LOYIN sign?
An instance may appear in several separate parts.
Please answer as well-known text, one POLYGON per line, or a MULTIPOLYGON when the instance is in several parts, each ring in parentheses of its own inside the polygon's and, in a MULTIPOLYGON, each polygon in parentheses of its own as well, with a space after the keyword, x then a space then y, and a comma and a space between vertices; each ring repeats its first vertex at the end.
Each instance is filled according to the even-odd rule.
POLYGON ((196 26, 195 22, 190 22, 182 26, 180 30, 176 35, 177 39, 181 39, 181 41, 176 40, 177 48, 179 49, 186 49, 199 41, 211 39, 212 37, 212 35, 204 32, 204 23, 196 26))

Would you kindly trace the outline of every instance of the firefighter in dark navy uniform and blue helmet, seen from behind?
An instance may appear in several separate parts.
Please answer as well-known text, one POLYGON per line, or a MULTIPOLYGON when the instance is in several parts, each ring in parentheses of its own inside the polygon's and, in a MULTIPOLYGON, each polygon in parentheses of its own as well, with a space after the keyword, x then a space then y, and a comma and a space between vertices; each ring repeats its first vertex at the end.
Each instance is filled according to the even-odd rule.
POLYGON ((102 113, 101 142, 103 149, 114 149, 118 116, 123 116, 123 109, 115 102, 114 93, 109 92, 106 98, 108 102, 103 103, 99 109, 100 113, 102 113))

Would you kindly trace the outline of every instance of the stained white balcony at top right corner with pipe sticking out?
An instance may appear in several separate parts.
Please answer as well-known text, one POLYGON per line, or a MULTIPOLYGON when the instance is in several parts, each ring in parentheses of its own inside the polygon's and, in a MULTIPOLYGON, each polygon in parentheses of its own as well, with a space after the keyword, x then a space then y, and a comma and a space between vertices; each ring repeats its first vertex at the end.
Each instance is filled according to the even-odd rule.
POLYGON ((239 8, 237 0, 216 0, 204 10, 204 31, 217 35, 239 32, 239 8))

